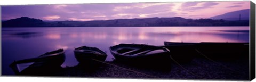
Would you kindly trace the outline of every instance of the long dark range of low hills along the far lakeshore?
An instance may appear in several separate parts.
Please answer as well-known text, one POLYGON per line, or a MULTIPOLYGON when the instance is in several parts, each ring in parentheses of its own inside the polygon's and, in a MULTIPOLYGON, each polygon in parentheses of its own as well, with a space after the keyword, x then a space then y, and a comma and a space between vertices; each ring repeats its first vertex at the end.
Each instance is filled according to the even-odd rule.
POLYGON ((21 17, 2 22, 3 27, 154 27, 154 26, 249 26, 249 20, 142 18, 96 21, 42 21, 21 17))

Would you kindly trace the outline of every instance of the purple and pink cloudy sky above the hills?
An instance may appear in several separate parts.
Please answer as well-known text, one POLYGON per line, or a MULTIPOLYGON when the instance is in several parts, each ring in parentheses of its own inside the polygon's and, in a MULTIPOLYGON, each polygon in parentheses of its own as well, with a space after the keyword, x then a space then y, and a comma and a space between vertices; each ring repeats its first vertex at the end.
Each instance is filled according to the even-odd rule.
POLYGON ((49 21, 90 21, 151 17, 210 18, 250 9, 250 1, 111 3, 1 6, 2 20, 30 17, 49 21))

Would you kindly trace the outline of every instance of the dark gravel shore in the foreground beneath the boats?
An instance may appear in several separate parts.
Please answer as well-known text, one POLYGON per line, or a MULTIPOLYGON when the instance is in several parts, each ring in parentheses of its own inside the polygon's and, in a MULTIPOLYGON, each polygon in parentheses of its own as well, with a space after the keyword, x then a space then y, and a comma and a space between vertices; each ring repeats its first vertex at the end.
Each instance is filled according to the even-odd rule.
POLYGON ((62 68, 54 76, 81 78, 148 78, 148 79, 206 79, 206 80, 248 80, 249 61, 239 58, 232 61, 209 60, 197 57, 186 63, 172 61, 171 69, 163 71, 150 67, 106 61, 98 68, 62 68))

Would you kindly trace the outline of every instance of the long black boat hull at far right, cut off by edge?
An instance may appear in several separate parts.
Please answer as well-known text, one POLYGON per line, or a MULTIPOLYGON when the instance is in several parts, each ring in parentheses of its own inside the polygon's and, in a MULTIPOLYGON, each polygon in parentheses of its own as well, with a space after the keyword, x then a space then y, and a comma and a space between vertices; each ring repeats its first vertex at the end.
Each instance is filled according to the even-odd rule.
POLYGON ((164 45, 194 45, 198 54, 211 59, 233 60, 249 55, 249 43, 221 43, 221 42, 201 42, 201 43, 176 43, 164 42, 164 45))

